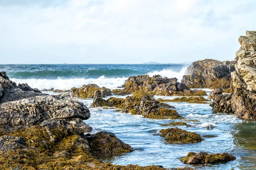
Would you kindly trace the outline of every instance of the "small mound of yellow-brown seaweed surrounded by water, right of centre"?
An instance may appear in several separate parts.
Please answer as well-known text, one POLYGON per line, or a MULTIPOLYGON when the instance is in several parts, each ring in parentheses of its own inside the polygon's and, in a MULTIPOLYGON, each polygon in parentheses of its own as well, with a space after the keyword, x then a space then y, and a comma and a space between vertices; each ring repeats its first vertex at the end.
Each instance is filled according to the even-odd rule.
POLYGON ((188 132, 178 127, 160 130, 161 136, 164 137, 166 143, 196 143, 203 139, 195 132, 188 132))

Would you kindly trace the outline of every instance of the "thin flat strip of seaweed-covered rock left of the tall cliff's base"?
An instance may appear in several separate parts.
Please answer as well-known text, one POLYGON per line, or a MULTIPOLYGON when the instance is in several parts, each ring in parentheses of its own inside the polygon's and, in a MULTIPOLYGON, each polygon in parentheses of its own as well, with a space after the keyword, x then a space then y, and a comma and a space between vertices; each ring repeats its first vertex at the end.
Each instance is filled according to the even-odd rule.
POLYGON ((175 99, 157 99, 159 102, 187 102, 187 103, 197 103, 197 104, 209 104, 210 100, 205 99, 203 96, 199 97, 177 97, 175 99))

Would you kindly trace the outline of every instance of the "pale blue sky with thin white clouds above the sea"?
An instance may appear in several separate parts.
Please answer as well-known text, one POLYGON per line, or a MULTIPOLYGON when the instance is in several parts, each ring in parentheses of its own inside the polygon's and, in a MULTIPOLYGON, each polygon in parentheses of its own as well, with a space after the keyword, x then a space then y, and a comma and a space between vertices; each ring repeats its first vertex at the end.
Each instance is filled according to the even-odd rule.
POLYGON ((0 63, 233 60, 255 0, 0 0, 0 63))

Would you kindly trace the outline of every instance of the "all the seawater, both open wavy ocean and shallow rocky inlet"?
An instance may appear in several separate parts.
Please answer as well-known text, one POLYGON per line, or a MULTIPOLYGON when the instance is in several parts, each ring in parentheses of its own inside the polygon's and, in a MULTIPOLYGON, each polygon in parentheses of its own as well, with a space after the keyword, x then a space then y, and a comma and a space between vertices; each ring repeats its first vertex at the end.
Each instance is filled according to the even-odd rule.
MULTIPOLYGON (((186 74, 188 65, 157 64, 59 64, 59 65, 0 65, 16 83, 28 83, 32 88, 55 88, 68 90, 89 83, 115 89, 134 75, 160 74, 162 77, 176 77, 178 81, 186 74)), ((211 89, 203 89, 209 94, 211 89)), ((53 92, 45 92, 56 94, 53 92)), ((125 98, 126 96, 116 96, 125 98)), ((154 98, 173 99, 177 96, 154 96, 154 98)), ((207 98, 207 96, 204 96, 207 98)), ((105 98, 106 99, 106 98, 105 98)), ((79 99, 88 108, 93 99, 79 99)), ((130 113, 116 113, 115 109, 90 108, 90 119, 85 123, 93 127, 93 133, 110 131, 135 150, 131 153, 101 156, 104 162, 127 165, 162 165, 163 167, 193 167, 203 170, 256 169, 256 122, 241 120, 235 115, 212 113, 209 104, 168 102, 185 117, 189 127, 179 128, 199 133, 204 141, 193 144, 165 144, 159 130, 167 128, 162 124, 180 121, 169 119, 146 119, 130 113), (196 121, 196 122, 195 122, 196 121), (204 137, 214 135, 213 138, 204 137), (189 152, 231 153, 235 161, 220 164, 183 164, 179 159, 189 152)), ((184 121, 184 120, 183 120, 184 121)))

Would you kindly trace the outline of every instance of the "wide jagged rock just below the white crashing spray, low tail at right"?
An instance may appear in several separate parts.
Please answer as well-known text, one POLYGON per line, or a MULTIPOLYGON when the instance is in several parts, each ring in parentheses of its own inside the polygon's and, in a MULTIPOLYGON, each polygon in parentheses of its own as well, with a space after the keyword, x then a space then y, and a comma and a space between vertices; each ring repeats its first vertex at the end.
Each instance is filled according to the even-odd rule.
POLYGON ((205 91, 192 91, 184 83, 177 82, 176 78, 148 75, 129 77, 123 89, 124 94, 133 94, 136 91, 152 93, 159 96, 202 96, 207 95, 205 91))

